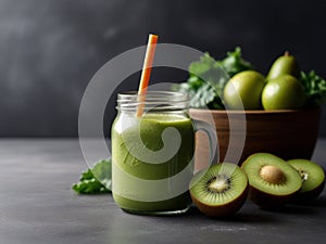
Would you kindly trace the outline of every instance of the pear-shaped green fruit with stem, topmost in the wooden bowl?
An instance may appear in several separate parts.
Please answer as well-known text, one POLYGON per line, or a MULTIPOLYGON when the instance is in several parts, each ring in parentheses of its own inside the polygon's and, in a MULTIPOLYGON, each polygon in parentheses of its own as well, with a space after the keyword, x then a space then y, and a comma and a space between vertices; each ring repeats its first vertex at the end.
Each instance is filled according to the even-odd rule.
POLYGON ((273 64, 266 77, 267 80, 275 79, 281 75, 291 75, 300 77, 299 64, 293 55, 288 51, 283 56, 279 56, 273 64))

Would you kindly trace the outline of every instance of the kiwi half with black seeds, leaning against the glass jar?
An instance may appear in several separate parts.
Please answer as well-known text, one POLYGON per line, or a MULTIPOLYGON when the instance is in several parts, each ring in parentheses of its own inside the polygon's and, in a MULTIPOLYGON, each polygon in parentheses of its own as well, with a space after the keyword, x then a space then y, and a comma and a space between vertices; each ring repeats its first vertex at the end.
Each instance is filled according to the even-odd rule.
POLYGON ((197 172, 190 181, 190 195, 200 211, 209 217, 236 214, 248 196, 246 174, 235 164, 222 163, 197 172))

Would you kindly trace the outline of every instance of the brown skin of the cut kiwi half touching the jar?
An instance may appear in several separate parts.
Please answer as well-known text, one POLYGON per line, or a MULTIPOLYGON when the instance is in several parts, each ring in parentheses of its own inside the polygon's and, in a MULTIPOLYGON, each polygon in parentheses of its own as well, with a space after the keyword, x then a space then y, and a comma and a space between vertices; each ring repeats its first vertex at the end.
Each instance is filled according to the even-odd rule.
POLYGON ((211 218, 225 218, 235 215, 243 206, 248 197, 248 194, 249 194, 248 180, 247 180, 247 185, 244 191, 237 198, 235 198, 231 203, 227 203, 220 206, 211 206, 211 205, 203 204, 200 201, 198 201, 196 197, 193 197, 193 195, 190 192, 192 202, 198 207, 198 209, 211 218))

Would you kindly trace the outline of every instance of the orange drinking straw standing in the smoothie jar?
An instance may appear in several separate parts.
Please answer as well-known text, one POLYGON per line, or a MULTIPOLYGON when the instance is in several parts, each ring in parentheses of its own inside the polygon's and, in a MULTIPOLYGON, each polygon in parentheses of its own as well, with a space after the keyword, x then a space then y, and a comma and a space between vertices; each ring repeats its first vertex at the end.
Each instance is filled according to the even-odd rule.
POLYGON ((146 100, 148 84, 151 77, 152 64, 154 60, 156 43, 159 36, 150 34, 148 37, 147 50, 142 65, 142 72, 140 77, 140 84, 138 88, 138 107, 137 107, 137 117, 141 117, 143 113, 143 102, 146 100))

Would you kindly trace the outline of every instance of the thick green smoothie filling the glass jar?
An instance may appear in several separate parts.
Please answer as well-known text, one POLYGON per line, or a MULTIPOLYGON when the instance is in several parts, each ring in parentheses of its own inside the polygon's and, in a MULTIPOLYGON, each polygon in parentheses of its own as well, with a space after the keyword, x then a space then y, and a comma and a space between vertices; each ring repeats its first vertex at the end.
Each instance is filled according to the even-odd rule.
POLYGON ((195 131, 188 116, 123 115, 111 136, 113 197, 121 208, 147 214, 190 206, 187 188, 193 174, 195 131), (168 129, 174 134, 166 133, 164 141, 168 129))

